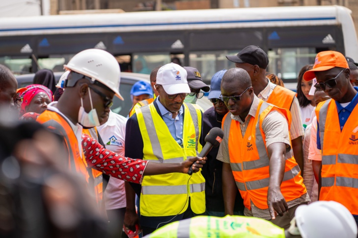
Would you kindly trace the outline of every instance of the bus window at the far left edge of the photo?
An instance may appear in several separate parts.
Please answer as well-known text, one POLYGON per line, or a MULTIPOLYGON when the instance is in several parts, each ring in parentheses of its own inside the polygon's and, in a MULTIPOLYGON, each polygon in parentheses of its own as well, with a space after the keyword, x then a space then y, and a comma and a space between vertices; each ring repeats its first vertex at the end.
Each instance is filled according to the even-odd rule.
POLYGON ((9 68, 14 74, 31 72, 31 59, 23 56, 0 57, 0 64, 9 68))

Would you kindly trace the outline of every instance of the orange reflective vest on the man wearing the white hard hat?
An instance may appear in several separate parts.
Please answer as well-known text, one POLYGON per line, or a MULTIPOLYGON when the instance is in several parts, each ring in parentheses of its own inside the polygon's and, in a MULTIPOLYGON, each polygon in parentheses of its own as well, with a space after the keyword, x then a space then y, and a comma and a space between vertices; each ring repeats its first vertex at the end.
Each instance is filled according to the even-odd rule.
POLYGON ((36 121, 54 131, 56 134, 63 136, 68 151, 67 163, 69 169, 82 174, 83 178, 89 182, 87 162, 84 158, 83 151, 80 151, 79 149, 79 142, 67 119, 58 113, 47 109, 40 114, 36 121))

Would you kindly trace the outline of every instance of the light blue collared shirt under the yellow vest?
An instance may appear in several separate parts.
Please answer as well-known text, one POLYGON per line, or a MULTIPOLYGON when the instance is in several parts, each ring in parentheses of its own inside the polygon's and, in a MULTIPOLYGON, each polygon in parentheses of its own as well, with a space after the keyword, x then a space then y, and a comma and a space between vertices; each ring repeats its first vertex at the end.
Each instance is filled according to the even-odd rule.
POLYGON ((159 108, 159 111, 163 117, 166 126, 169 129, 171 136, 174 140, 183 147, 183 124, 184 124, 184 109, 183 105, 180 107, 179 114, 172 118, 172 113, 166 110, 163 104, 159 101, 159 96, 155 99, 159 108))

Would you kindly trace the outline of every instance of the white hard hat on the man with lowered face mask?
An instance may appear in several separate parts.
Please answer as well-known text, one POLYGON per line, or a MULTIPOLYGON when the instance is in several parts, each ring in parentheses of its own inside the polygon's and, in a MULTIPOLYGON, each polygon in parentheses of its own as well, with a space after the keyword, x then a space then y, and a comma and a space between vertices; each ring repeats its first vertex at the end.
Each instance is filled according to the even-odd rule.
POLYGON ((85 49, 73 56, 68 64, 63 67, 106 85, 123 100, 123 97, 119 94, 119 64, 109 52, 102 49, 85 49))

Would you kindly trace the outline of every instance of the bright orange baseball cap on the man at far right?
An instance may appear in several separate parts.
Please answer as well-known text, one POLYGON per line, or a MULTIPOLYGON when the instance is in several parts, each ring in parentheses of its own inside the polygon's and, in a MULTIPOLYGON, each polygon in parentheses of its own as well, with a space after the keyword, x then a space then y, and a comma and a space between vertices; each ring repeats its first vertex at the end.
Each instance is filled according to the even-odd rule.
POLYGON ((305 81, 311 81, 315 78, 315 71, 326 71, 334 67, 349 68, 346 57, 337 51, 322 51, 316 55, 313 69, 303 74, 305 81))

